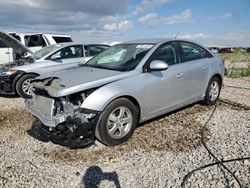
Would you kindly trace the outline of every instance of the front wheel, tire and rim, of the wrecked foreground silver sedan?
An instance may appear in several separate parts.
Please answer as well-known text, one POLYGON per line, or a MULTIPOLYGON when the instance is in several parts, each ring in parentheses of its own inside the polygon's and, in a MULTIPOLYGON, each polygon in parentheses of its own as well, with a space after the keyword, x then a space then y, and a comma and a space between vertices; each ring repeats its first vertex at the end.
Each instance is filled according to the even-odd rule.
POLYGON ((127 141, 138 122, 138 110, 128 99, 120 98, 110 103, 97 124, 97 138, 108 146, 127 141))

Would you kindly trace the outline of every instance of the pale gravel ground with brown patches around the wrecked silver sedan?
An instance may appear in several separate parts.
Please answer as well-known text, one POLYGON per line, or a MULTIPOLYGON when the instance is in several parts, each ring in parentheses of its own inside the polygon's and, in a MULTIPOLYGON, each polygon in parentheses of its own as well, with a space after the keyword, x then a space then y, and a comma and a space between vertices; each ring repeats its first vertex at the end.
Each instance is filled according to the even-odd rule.
MULTIPOLYGON (((226 79, 225 86, 250 88, 250 78, 226 79)), ((224 87, 204 131, 211 151, 223 160, 250 157, 250 90, 224 87)), ((34 118, 22 99, 0 98, 0 187, 180 187, 193 169, 215 162, 201 143, 200 132, 213 106, 191 105, 144 123, 117 147, 99 142, 72 150, 43 143, 26 131, 34 118)), ((225 163, 250 187, 250 161, 225 163)), ((239 187, 217 165, 191 174, 186 187, 239 187)))

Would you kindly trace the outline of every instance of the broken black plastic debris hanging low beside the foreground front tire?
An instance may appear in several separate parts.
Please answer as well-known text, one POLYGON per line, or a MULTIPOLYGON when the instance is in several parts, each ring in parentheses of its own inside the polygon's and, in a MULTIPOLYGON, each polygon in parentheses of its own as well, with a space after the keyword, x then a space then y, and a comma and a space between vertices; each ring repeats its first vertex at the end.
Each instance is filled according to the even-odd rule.
POLYGON ((100 112, 80 109, 78 115, 67 117, 64 123, 56 127, 48 127, 37 119, 28 134, 43 142, 50 141, 72 149, 85 148, 94 144, 99 117, 100 112), (85 115, 84 118, 79 114, 85 115))

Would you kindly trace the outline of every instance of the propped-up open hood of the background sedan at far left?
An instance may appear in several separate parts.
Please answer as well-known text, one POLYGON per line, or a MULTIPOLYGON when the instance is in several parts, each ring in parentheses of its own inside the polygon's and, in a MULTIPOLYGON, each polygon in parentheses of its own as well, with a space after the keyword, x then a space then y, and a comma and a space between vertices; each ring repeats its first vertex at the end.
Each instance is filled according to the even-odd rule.
POLYGON ((0 31, 0 40, 3 41, 6 45, 13 48, 20 55, 23 55, 25 52, 29 52, 30 54, 34 56, 31 50, 29 50, 21 42, 19 42, 12 36, 8 35, 7 33, 0 31))

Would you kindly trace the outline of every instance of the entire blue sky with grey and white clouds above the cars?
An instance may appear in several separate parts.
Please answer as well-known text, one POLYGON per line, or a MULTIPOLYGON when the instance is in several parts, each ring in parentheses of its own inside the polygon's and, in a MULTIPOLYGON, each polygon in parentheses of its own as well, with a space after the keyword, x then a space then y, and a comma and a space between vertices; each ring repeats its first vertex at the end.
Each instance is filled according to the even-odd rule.
POLYGON ((148 37, 250 46, 250 0, 0 0, 0 30, 65 33, 79 42, 148 37))

